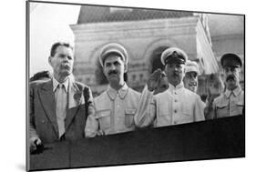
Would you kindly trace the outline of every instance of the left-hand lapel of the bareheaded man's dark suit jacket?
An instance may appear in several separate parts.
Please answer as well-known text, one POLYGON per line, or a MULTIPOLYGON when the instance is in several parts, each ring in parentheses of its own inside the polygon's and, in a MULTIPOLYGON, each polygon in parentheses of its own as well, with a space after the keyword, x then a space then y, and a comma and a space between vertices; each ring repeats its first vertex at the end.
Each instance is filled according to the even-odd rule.
POLYGON ((56 131, 56 136, 58 136, 58 128, 56 123, 56 106, 55 106, 55 96, 53 92, 53 82, 52 80, 48 81, 39 89, 39 97, 42 106, 51 121, 54 129, 56 131))

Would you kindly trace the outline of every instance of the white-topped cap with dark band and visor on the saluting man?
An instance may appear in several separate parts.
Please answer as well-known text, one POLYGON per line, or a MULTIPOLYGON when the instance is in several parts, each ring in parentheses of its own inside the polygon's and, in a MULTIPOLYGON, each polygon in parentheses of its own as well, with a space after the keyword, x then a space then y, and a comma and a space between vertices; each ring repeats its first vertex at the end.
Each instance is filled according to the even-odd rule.
POLYGON ((188 56, 179 48, 171 47, 165 50, 161 56, 161 62, 164 66, 167 64, 185 64, 188 56))

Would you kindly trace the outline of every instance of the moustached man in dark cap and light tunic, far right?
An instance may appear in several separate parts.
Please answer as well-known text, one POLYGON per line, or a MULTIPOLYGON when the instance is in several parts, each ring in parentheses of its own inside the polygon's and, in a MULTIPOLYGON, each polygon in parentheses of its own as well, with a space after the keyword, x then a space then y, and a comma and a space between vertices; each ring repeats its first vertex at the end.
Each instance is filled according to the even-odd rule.
POLYGON ((235 54, 225 54, 220 58, 224 70, 226 91, 214 99, 212 118, 238 116, 244 112, 244 92, 241 89, 241 58, 235 54))

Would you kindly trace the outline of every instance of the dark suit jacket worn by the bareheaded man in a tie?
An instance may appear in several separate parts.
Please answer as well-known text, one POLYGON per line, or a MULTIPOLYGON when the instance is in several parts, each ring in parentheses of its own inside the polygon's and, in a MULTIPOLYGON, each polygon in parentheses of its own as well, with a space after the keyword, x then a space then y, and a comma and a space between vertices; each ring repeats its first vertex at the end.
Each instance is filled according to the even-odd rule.
MULTIPOLYGON (((39 137, 43 143, 58 141, 56 122, 56 103, 53 92, 53 81, 36 81, 30 83, 29 102, 29 138, 39 137)), ((65 136, 67 140, 85 137, 86 107, 84 89, 89 90, 89 102, 92 102, 88 86, 69 80, 67 96, 67 117, 65 119, 65 136)), ((88 110, 88 113, 91 113, 88 110)))

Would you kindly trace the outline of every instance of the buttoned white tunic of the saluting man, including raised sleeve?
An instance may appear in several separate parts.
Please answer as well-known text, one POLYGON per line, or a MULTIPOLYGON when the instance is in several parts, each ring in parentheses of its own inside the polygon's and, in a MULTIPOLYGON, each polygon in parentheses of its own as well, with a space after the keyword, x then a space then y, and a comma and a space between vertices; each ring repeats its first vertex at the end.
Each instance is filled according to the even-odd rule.
POLYGON ((169 84, 169 89, 153 96, 147 86, 143 90, 135 123, 139 127, 153 124, 155 127, 171 126, 204 120, 200 96, 180 83, 169 84))

